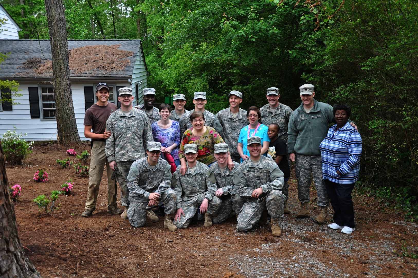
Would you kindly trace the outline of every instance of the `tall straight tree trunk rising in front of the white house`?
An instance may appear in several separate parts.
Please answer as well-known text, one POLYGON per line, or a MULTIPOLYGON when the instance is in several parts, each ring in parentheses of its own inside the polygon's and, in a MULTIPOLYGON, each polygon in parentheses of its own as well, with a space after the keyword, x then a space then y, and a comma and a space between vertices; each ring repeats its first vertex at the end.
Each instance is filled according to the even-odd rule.
POLYGON ((51 41, 56 126, 59 144, 81 143, 71 93, 67 29, 62 0, 45 0, 51 41))

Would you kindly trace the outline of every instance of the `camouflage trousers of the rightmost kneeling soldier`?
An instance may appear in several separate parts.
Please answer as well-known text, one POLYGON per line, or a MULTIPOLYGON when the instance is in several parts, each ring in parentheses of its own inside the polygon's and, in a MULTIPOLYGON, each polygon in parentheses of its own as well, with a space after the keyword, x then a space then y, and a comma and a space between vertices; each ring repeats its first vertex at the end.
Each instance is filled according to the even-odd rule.
POLYGON ((238 215, 237 229, 246 232, 261 218, 261 214, 267 208, 271 218, 278 219, 283 215, 286 196, 280 190, 271 190, 265 198, 255 200, 255 198, 246 198, 247 201, 242 206, 238 215))

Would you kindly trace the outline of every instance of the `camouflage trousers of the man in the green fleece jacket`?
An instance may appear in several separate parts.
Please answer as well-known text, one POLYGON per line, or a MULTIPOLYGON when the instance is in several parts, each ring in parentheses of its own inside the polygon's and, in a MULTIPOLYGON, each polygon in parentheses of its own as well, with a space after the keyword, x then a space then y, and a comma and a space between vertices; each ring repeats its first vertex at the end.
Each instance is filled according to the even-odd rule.
POLYGON ((318 206, 329 206, 329 198, 322 179, 322 163, 320 155, 296 155, 296 179, 298 179, 298 198, 301 203, 310 200, 309 188, 311 187, 311 172, 318 196, 318 206))

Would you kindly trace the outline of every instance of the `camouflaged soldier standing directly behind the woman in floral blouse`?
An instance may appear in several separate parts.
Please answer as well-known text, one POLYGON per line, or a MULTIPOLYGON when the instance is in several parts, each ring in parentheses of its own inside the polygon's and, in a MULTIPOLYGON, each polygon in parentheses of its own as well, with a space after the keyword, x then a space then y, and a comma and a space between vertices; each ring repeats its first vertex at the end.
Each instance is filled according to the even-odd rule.
POLYGON ((183 117, 181 117, 179 124, 180 124, 180 136, 183 137, 184 131, 190 129, 192 127, 190 121, 190 114, 194 111, 200 111, 205 115, 205 126, 210 126, 216 129, 219 134, 222 133, 222 126, 219 123, 218 118, 211 112, 205 110, 206 105, 206 92, 194 92, 194 109, 184 113, 183 117))

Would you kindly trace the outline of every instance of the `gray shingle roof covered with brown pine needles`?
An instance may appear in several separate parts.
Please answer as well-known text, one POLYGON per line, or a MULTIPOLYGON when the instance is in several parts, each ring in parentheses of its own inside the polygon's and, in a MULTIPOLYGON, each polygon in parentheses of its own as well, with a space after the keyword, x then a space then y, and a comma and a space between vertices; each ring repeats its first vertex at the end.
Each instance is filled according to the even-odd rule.
MULTIPOLYGON (((71 78, 130 78, 141 40, 68 40, 71 78), (97 47, 95 47, 97 46, 97 47)), ((52 77, 49 40, 0 40, 0 79, 52 77)))

